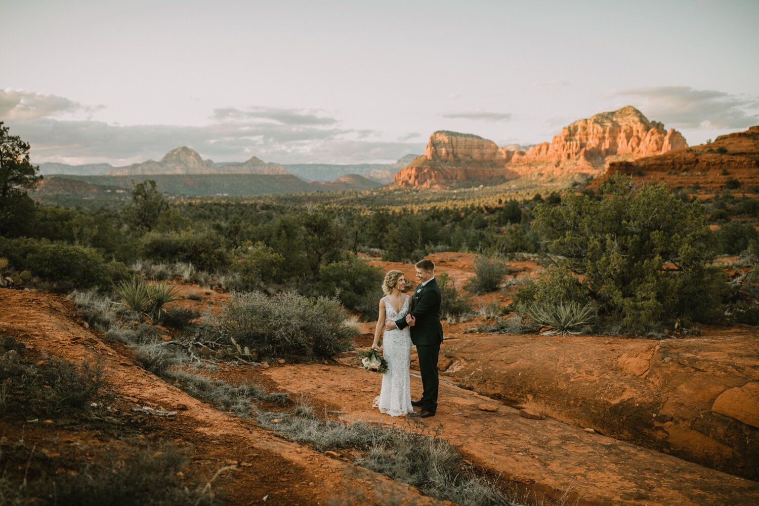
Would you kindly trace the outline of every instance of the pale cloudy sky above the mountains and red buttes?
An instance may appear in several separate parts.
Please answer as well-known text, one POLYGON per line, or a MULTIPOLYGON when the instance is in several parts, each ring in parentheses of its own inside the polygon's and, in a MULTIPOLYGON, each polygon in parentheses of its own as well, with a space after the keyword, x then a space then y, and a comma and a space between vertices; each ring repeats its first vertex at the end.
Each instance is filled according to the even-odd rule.
POLYGON ((33 162, 393 162, 634 105, 759 124, 757 0, 2 0, 0 121, 33 162))

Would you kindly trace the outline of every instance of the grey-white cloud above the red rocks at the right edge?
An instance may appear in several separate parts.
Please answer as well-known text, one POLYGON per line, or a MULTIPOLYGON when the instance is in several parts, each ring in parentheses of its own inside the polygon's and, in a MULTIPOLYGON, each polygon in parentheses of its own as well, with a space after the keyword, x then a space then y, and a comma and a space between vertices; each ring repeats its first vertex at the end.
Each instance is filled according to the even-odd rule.
POLYGON ((756 97, 730 95, 690 86, 658 86, 622 90, 616 96, 631 99, 650 120, 682 129, 736 129, 759 124, 756 97))

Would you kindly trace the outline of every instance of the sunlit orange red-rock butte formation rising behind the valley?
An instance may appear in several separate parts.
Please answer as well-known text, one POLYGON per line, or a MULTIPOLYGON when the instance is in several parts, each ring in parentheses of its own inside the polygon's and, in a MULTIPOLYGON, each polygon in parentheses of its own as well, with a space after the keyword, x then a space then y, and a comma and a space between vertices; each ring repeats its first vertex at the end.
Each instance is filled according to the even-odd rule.
POLYGON ((597 175, 610 162, 658 155, 687 147, 676 130, 649 121, 627 106, 569 124, 550 143, 529 149, 507 149, 471 134, 438 131, 424 156, 395 175, 400 187, 454 187, 494 184, 523 175, 562 178, 576 173, 597 175))

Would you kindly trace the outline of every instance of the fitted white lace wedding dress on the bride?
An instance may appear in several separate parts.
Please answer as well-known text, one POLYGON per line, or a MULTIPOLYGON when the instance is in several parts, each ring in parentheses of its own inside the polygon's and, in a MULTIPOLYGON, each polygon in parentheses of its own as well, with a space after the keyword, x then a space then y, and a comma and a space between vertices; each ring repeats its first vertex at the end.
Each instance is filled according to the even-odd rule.
MULTIPOLYGON (((408 314, 411 297, 406 296, 400 313, 396 313, 392 304, 385 300, 385 315, 397 320, 408 314)), ((408 373, 408 361, 411 357, 411 328, 403 330, 394 328, 383 334, 383 357, 387 360, 387 372, 382 376, 382 389, 374 399, 374 406, 390 416, 401 416, 414 411, 411 406, 411 377, 408 373)))

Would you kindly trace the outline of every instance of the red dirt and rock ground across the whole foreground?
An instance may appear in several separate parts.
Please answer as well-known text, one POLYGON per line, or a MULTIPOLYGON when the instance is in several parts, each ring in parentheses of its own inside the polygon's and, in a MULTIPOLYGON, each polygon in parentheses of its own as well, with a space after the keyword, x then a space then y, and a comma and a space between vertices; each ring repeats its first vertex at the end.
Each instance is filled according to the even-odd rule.
MULTIPOLYGON (((473 255, 436 253, 432 258, 437 272, 449 272, 456 281, 472 275, 473 255)), ((413 266, 373 263, 383 269, 400 268, 414 279, 413 266)), ((533 262, 510 266, 521 269, 516 275, 535 276, 540 270, 533 262)), ((219 306, 224 297, 203 293, 201 300, 181 304, 199 309, 210 299, 212 306, 219 306)), ((489 294, 475 299, 474 306, 490 300, 505 304, 509 297, 489 294)), ((283 441, 251 421, 190 398, 135 366, 128 351, 82 328, 75 311, 60 297, 2 290, 0 332, 20 338, 34 352, 44 349, 70 360, 104 357, 122 410, 135 404, 187 406, 173 419, 155 420, 156 426, 170 438, 195 445, 197 460, 192 465, 198 476, 207 479, 235 460, 236 471, 218 483, 231 491, 231 504, 257 504, 264 495, 274 504, 326 504, 354 489, 371 497, 376 483, 392 485, 345 458, 331 459, 283 441)), ((304 394, 316 406, 345 412, 345 420, 400 427, 424 423, 530 503, 759 503, 759 482, 674 456, 703 459, 732 473, 749 473, 751 465, 756 469, 751 452, 755 458, 759 353, 753 328, 709 329, 698 338, 663 341, 465 333, 482 320, 444 322, 441 404, 433 419, 392 419, 373 410, 380 378, 355 366, 351 354, 342 363, 225 366, 215 374, 304 394), (483 404, 497 410, 481 410, 483 404), (547 417, 524 418, 519 416, 521 407, 547 417), (595 431, 584 430, 591 428, 595 431), (737 442, 739 435, 745 438, 743 446, 737 442)), ((362 329, 371 332, 373 325, 369 322, 362 329)), ((357 342, 368 344, 367 340, 370 335, 357 342)), ((417 376, 412 377, 412 391, 420 391, 417 376)), ((54 450, 56 440, 45 430, 49 431, 39 428, 34 437, 54 450)), ((59 433, 71 437, 63 429, 59 433)), ((86 434, 74 437, 92 439, 86 434)))

